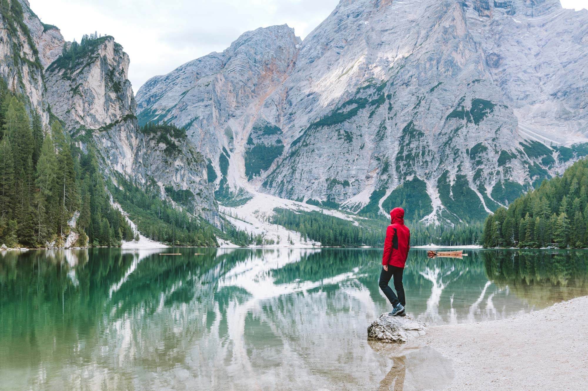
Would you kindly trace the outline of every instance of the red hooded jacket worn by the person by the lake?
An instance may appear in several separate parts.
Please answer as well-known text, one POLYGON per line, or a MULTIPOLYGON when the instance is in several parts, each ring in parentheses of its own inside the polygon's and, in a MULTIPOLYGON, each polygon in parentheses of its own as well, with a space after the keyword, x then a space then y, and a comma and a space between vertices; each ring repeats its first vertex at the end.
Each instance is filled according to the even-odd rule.
POLYGON ((390 211, 390 225, 386 230, 382 265, 405 267, 409 249, 410 231, 404 225, 404 209, 394 208, 390 211))

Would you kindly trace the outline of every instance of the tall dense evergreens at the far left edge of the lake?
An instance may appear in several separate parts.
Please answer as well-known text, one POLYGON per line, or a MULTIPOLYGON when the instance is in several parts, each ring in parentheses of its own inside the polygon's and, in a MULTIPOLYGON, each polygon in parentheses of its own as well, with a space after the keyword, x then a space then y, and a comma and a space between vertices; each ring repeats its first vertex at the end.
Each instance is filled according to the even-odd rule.
POLYGON ((131 227, 113 209, 93 151, 72 146, 59 122, 43 129, 37 112, 0 82, 0 242, 60 244, 75 211, 78 245, 120 245, 131 227))

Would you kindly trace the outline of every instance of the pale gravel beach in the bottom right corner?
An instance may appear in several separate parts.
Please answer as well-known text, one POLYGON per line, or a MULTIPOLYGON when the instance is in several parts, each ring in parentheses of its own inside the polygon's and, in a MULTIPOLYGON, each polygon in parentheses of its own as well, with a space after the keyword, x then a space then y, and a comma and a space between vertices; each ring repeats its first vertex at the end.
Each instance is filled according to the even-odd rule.
POLYGON ((512 318, 430 326, 419 345, 452 362, 447 390, 584 389, 588 296, 512 318))

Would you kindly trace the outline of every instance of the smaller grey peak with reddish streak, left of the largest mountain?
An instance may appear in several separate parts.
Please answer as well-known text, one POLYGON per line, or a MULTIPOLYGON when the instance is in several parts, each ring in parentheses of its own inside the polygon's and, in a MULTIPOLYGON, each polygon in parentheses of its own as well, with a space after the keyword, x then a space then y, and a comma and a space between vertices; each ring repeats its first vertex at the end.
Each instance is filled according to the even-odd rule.
MULTIPOLYGON (((228 184, 243 186, 245 153, 255 146, 255 140, 248 144, 249 133, 264 126, 260 110, 292 70, 299 45, 286 25, 246 32, 222 53, 148 80, 137 92, 139 122, 185 127, 188 142, 208 158, 208 180, 220 187, 219 193, 228 193, 228 184)), ((271 144, 277 146, 277 138, 271 144)))

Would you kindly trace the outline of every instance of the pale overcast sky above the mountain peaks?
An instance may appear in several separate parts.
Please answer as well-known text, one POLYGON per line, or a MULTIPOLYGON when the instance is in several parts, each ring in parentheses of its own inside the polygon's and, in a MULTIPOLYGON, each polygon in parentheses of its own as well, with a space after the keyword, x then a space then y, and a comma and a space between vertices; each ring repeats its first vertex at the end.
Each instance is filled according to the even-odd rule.
MULTIPOLYGON (((588 0, 561 0, 588 8, 588 0)), ((112 35, 131 57, 135 92, 149 77, 222 52, 245 31, 288 23, 305 38, 339 0, 29 0, 44 23, 67 41, 86 33, 112 35)))

